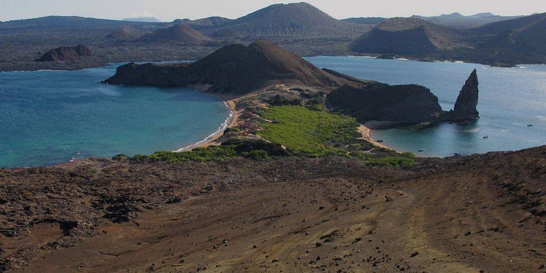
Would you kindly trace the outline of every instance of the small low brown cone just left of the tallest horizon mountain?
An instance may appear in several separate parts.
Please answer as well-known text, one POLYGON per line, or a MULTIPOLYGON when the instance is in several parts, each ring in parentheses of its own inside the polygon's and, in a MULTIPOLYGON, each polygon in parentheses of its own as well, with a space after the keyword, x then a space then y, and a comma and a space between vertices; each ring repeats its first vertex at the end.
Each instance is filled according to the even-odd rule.
POLYGON ((175 25, 169 28, 158 29, 141 37, 141 41, 177 41, 185 44, 198 44, 211 39, 187 25, 175 25))

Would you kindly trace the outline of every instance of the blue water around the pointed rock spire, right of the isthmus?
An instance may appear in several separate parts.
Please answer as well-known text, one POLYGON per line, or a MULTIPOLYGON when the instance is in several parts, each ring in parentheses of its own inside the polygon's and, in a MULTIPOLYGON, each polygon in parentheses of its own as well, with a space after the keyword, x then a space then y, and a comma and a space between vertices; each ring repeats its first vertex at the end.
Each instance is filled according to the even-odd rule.
POLYGON ((546 145, 546 66, 492 68, 482 64, 381 60, 367 57, 310 57, 321 68, 387 84, 430 88, 444 110, 453 109, 462 85, 478 70, 480 119, 470 125, 441 123, 426 128, 373 130, 374 139, 420 156, 511 151, 546 145), (527 124, 533 124, 528 127, 527 124), (483 136, 489 138, 484 139, 483 136), (426 149, 425 152, 418 152, 426 149))

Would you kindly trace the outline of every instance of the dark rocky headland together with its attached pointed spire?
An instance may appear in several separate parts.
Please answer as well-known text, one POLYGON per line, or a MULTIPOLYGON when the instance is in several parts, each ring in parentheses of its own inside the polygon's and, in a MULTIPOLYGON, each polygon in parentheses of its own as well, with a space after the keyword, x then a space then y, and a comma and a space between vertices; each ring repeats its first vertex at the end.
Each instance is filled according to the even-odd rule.
POLYGON ((345 85, 328 94, 327 104, 335 111, 351 115, 360 122, 396 121, 400 123, 466 122, 479 118, 478 76, 476 69, 466 80, 455 108, 442 110, 438 98, 419 85, 345 85))

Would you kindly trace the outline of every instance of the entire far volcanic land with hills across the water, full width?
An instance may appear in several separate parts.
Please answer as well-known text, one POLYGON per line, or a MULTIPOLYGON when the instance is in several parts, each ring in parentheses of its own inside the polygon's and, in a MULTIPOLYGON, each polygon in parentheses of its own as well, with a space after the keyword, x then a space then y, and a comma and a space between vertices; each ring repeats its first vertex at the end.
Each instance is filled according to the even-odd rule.
POLYGON ((46 16, 0 23, 0 33, 9 41, 0 43, 0 51, 11 52, 0 55, 0 71, 81 69, 130 60, 199 60, 221 46, 256 39, 271 40, 300 56, 370 55, 513 67, 546 63, 545 16, 484 13, 338 20, 308 3, 274 4, 236 19, 133 22, 46 16), (90 46, 93 57, 36 63, 40 56, 28 35, 41 52, 82 44, 90 46))

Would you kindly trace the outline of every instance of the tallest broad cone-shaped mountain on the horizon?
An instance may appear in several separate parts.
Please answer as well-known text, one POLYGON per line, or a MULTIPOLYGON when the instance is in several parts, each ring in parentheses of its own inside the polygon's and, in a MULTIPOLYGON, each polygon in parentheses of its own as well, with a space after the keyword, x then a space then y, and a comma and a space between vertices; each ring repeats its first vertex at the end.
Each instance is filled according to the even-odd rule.
POLYGON ((370 26, 334 19, 307 3, 275 4, 218 25, 252 37, 355 37, 370 26))

